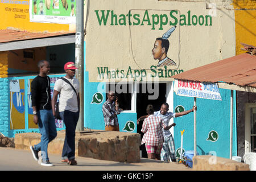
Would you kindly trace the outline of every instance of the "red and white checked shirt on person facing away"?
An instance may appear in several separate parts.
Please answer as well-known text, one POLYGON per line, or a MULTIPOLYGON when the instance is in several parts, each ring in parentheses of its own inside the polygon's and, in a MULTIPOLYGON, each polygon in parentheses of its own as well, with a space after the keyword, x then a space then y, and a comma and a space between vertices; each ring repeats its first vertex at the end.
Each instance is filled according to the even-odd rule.
POLYGON ((146 143, 148 146, 161 146, 164 141, 163 131, 166 125, 163 123, 163 119, 161 117, 156 117, 154 115, 148 116, 144 119, 142 125, 142 133, 143 135, 141 144, 146 143))

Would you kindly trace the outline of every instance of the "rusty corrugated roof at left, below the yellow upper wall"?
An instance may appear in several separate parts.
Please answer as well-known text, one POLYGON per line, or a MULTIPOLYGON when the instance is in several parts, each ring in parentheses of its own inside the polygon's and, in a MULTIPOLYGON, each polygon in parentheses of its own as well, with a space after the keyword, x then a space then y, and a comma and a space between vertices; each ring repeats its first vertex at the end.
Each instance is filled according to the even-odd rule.
POLYGON ((6 29, 6 30, 0 30, 0 43, 14 42, 19 40, 47 38, 51 36, 71 35, 71 34, 75 34, 75 32, 34 33, 34 32, 28 32, 28 31, 6 29))

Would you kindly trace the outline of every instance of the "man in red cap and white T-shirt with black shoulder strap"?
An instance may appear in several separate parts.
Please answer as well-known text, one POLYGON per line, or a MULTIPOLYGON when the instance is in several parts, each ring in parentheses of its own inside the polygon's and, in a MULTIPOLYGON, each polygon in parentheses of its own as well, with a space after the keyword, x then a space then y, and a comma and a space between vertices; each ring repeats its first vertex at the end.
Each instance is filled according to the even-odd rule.
MULTIPOLYGON (((73 62, 64 65, 66 75, 55 82, 52 97, 52 108, 55 108, 57 96, 60 94, 60 117, 66 126, 61 162, 67 162, 69 165, 77 165, 75 160, 75 131, 79 119, 80 97, 79 80, 75 78, 76 69, 73 62)), ((52 109, 52 113, 55 116, 55 109, 52 109)))

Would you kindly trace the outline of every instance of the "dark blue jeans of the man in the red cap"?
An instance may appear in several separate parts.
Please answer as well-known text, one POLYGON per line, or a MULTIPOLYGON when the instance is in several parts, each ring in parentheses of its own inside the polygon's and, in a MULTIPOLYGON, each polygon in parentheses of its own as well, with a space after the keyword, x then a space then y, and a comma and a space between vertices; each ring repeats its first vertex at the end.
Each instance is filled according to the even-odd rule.
POLYGON ((75 159, 76 125, 79 119, 79 111, 76 113, 65 110, 60 112, 60 117, 66 126, 65 140, 62 150, 62 159, 75 159))

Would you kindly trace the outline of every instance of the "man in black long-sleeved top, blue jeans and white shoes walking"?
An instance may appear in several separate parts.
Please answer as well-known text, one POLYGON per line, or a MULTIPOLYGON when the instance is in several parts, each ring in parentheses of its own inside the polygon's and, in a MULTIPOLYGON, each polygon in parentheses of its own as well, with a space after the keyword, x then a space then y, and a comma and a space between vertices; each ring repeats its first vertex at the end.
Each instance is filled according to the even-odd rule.
POLYGON ((38 125, 41 133, 41 142, 30 146, 30 150, 36 161, 39 160, 38 152, 42 153, 42 166, 53 166, 48 158, 48 143, 56 136, 55 118, 52 115, 51 89, 49 74, 50 65, 46 60, 38 63, 40 69, 39 75, 31 82, 32 109, 34 114, 34 123, 38 125))

